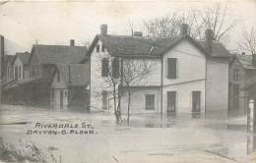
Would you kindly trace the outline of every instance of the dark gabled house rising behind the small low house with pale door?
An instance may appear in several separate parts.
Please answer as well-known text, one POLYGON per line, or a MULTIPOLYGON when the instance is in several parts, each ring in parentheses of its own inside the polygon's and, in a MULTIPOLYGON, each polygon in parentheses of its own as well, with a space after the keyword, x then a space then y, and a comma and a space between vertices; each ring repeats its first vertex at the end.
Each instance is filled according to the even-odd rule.
POLYGON ((56 64, 77 64, 86 56, 87 47, 75 46, 70 40, 70 46, 65 45, 32 45, 30 57, 30 78, 33 103, 49 106, 51 87, 49 82, 56 64))

